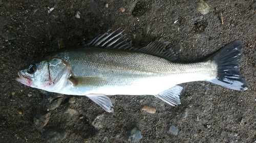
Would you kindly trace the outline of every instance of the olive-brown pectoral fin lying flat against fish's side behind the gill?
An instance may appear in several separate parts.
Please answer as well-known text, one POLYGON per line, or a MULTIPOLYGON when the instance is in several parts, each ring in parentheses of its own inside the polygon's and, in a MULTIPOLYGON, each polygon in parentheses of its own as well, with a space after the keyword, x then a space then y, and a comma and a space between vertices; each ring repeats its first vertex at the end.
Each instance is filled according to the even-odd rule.
POLYGON ((106 84, 107 80, 101 77, 73 77, 69 80, 73 83, 74 87, 101 87, 106 84))

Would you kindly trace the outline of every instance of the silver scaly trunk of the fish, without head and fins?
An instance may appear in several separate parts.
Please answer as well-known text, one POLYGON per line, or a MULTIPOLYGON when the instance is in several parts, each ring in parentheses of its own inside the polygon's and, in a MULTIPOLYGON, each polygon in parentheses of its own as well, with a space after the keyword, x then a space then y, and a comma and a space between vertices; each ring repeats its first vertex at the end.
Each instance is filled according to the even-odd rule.
POLYGON ((54 91, 70 95, 156 95, 176 84, 210 80, 217 74, 210 61, 179 64, 141 52, 95 47, 65 51, 54 58, 70 66, 71 79, 85 81, 73 86, 76 81, 69 80, 54 91))

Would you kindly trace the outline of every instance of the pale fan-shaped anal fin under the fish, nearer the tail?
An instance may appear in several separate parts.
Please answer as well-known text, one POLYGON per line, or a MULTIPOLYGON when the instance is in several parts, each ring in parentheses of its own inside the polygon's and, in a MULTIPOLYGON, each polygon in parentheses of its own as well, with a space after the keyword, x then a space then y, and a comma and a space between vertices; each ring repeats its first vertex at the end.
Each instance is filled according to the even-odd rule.
POLYGON ((175 85, 174 87, 155 95, 155 97, 158 97, 164 102, 175 106, 177 104, 181 104, 179 95, 182 90, 183 88, 181 86, 175 85))

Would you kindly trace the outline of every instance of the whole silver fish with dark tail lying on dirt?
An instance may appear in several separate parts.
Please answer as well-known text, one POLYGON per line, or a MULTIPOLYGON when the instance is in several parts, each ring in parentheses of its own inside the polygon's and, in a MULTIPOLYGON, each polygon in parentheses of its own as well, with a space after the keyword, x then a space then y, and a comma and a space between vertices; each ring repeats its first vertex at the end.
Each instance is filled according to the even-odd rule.
POLYGON ((200 62, 179 63, 168 41, 160 38, 134 47, 120 29, 97 36, 81 48, 52 53, 20 70, 16 81, 65 95, 87 96, 113 112, 110 95, 153 95, 172 106, 181 104, 180 83, 208 81, 245 91, 239 71, 242 40, 235 40, 200 62))

